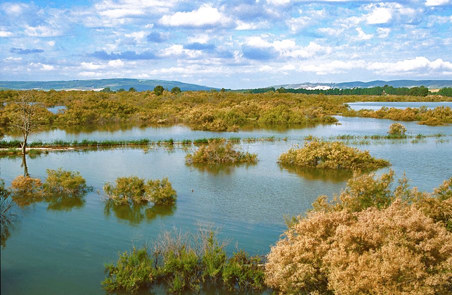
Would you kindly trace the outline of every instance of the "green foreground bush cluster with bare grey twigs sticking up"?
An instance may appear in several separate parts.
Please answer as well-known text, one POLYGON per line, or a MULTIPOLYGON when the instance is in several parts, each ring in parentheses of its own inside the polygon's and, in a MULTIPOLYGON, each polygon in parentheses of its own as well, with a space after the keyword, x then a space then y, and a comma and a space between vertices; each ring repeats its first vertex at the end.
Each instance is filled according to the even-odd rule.
POLYGON ((231 291, 265 288, 261 259, 244 251, 228 258, 226 244, 218 241, 215 231, 200 231, 198 235, 165 232, 153 246, 152 251, 124 252, 116 265, 106 265, 103 288, 136 292, 162 280, 176 294, 199 291, 202 283, 217 281, 231 291))

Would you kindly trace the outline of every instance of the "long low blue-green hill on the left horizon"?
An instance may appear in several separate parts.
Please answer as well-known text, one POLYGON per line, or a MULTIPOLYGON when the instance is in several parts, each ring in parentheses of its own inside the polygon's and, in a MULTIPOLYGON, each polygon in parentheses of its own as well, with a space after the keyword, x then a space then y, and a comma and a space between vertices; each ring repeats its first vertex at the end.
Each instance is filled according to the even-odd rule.
POLYGON ((155 86, 162 85, 163 88, 171 89, 175 86, 182 91, 187 90, 210 90, 217 89, 202 85, 183 83, 178 81, 145 80, 145 79, 95 79, 95 80, 71 80, 71 81, 0 81, 1 88, 9 89, 39 89, 39 90, 101 90, 110 87, 111 90, 130 87, 137 91, 153 90, 155 86))

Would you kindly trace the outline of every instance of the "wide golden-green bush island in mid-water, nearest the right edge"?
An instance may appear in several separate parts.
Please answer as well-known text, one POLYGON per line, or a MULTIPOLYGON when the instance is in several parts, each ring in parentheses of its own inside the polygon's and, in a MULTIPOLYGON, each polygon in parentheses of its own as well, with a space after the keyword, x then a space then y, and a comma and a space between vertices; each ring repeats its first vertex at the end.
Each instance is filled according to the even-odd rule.
POLYGON ((389 166, 383 159, 375 159, 368 151, 346 146, 342 142, 306 142, 301 149, 291 148, 278 158, 279 163, 331 169, 376 169, 389 166))

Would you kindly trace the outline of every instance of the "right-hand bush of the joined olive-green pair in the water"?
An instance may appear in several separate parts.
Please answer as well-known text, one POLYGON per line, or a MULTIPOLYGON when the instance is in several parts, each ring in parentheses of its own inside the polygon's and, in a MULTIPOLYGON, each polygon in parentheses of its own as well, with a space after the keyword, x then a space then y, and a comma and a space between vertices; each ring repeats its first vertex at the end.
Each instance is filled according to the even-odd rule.
POLYGON ((145 198, 155 205, 170 205, 176 202, 176 191, 167 177, 162 180, 149 180, 144 190, 145 198))

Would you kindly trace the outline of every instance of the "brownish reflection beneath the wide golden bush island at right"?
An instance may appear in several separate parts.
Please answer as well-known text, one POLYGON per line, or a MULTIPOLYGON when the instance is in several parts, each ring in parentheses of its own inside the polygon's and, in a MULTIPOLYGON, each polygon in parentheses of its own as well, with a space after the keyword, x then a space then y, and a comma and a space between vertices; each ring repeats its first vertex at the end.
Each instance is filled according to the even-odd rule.
POLYGON ((307 180, 321 180, 333 183, 341 183, 349 180, 353 172, 348 169, 319 169, 312 167, 301 167, 296 165, 279 164, 281 170, 299 175, 307 180))

